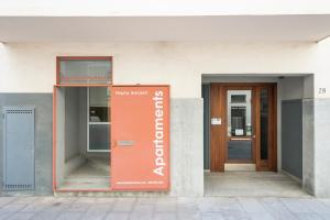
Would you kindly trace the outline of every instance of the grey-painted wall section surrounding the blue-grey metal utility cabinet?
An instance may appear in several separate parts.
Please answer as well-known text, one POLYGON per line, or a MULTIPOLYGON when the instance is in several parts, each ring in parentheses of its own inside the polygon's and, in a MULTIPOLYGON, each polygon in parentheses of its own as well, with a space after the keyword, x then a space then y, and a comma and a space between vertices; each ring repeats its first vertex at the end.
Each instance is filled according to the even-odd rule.
MULTIPOLYGON (((4 106, 35 107, 35 195, 52 195, 52 94, 0 94, 0 108, 4 106)), ((0 136, 3 138, 3 119, 0 117, 0 136)), ((0 141, 0 153, 3 143, 0 141)), ((0 177, 3 183, 2 158, 0 177)))

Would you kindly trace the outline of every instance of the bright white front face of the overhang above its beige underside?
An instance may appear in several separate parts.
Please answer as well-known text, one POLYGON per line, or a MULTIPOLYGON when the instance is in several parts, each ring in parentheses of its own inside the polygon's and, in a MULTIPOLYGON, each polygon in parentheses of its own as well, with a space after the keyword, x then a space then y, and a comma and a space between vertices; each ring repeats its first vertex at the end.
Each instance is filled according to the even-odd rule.
POLYGON ((1 0, 6 16, 329 14, 329 0, 1 0))

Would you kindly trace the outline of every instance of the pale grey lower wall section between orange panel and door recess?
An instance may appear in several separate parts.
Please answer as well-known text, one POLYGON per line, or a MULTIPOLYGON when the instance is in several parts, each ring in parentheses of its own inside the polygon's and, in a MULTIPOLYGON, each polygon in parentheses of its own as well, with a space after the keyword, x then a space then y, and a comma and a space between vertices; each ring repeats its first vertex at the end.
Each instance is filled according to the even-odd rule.
POLYGON ((204 195, 202 99, 170 99, 170 195, 204 195))

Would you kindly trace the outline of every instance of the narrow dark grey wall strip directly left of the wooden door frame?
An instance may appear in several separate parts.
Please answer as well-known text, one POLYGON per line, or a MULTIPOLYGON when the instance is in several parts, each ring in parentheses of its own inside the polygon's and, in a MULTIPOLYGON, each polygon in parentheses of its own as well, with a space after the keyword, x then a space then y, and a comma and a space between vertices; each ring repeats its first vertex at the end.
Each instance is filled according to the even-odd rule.
POLYGON ((210 169, 210 85, 202 85, 204 98, 204 168, 210 169))

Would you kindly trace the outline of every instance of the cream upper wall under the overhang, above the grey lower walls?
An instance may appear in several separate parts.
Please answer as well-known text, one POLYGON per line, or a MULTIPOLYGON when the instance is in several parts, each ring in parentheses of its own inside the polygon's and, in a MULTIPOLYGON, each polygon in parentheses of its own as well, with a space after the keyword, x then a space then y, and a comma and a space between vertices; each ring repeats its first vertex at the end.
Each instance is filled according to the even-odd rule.
POLYGON ((199 98, 201 74, 314 73, 318 50, 290 42, 4 44, 0 92, 52 92, 56 56, 103 55, 113 56, 114 84, 169 84, 173 98, 199 98))

